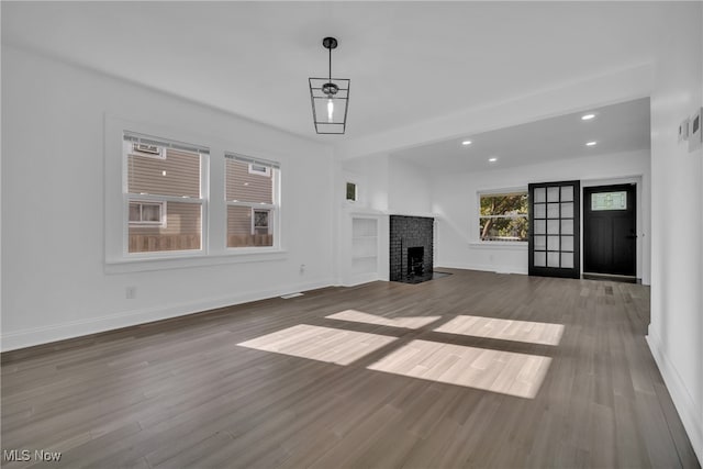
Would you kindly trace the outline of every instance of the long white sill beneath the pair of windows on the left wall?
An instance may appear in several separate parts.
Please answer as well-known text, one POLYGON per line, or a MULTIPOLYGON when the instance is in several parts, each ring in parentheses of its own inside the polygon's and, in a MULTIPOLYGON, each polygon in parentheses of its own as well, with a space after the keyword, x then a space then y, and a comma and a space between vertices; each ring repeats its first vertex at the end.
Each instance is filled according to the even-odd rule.
POLYGON ((110 259, 104 263, 105 273, 129 273, 150 270, 182 269, 190 267, 220 266, 224 264, 264 263, 284 260, 288 252, 271 248, 270 250, 242 248, 225 254, 183 254, 174 257, 134 257, 110 259))

